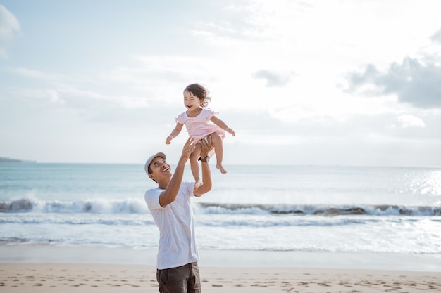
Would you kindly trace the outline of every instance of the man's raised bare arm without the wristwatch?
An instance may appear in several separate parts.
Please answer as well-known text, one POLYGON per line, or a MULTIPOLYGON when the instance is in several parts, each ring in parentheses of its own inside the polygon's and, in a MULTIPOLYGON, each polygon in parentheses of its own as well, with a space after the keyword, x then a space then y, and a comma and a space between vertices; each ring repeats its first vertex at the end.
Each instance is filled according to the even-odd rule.
POLYGON ((161 207, 165 207, 167 204, 174 202, 178 196, 180 185, 182 183, 182 177, 184 176, 185 163, 187 162, 194 148, 194 139, 188 138, 184 148, 182 149, 182 155, 180 156, 178 164, 176 165, 173 176, 170 178, 170 182, 168 182, 166 190, 159 195, 159 204, 161 204, 161 207))

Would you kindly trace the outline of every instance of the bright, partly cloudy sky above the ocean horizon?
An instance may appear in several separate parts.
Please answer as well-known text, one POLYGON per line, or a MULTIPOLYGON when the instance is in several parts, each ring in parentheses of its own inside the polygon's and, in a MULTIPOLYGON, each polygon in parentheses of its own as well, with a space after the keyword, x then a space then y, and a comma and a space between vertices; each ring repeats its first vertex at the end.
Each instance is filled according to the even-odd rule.
POLYGON ((0 157, 180 157, 182 91, 228 164, 441 166, 441 1, 0 0, 0 157))

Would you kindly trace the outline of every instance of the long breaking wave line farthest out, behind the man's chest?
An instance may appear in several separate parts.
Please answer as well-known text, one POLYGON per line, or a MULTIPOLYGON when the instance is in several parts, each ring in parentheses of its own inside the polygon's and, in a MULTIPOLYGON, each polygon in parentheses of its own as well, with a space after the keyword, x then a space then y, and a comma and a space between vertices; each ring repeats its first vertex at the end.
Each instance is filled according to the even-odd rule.
MULTIPOLYGON (((274 214, 274 215, 315 215, 315 216, 441 216, 441 206, 399 206, 399 205, 296 205, 296 204, 228 204, 194 203, 198 214, 274 214)), ((39 200, 33 196, 18 200, 0 202, 3 213, 90 213, 90 214, 145 214, 147 205, 142 199, 123 200, 39 200)))

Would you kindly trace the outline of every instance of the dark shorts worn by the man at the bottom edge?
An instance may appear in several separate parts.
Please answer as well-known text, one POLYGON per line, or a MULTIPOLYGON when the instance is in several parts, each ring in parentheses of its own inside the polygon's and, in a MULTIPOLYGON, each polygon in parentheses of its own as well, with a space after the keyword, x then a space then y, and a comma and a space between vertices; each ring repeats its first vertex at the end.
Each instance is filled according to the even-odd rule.
POLYGON ((197 263, 156 270, 160 293, 201 293, 197 263))

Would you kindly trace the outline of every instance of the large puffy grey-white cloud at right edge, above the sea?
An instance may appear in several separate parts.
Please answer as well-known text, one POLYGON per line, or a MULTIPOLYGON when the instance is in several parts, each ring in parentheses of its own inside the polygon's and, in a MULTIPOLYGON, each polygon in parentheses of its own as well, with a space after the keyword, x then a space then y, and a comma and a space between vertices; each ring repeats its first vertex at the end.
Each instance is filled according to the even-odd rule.
POLYGON ((420 63, 404 58, 401 64, 392 63, 387 72, 366 65, 364 72, 352 72, 347 77, 349 92, 361 90, 371 96, 395 94, 399 102, 418 108, 441 108, 441 67, 437 63, 420 63), (374 86, 366 91, 365 86, 374 86))

